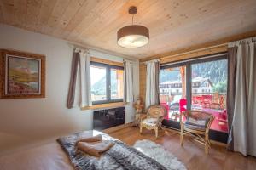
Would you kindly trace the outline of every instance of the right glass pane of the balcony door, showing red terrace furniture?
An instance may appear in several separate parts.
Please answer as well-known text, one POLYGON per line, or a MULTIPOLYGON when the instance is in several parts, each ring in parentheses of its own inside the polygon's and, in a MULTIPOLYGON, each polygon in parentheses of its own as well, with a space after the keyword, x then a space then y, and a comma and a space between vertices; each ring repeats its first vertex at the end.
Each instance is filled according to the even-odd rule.
POLYGON ((192 109, 207 111, 215 116, 211 129, 228 132, 227 59, 198 63, 192 68, 192 109))

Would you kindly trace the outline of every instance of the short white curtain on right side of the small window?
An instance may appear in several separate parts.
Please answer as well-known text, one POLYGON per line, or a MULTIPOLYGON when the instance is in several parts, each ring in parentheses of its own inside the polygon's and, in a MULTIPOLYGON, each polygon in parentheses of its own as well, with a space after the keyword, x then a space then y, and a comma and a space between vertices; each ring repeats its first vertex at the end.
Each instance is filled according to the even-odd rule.
POLYGON ((133 66, 132 61, 124 60, 124 74, 125 74, 125 95, 124 95, 124 101, 125 103, 133 102, 133 66))

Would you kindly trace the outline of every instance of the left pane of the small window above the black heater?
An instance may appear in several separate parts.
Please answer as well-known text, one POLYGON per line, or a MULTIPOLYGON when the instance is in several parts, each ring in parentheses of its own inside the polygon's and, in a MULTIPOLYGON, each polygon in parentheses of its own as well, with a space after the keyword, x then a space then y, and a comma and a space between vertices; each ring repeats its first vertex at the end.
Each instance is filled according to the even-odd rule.
POLYGON ((101 101, 107 99, 106 68, 90 66, 91 100, 101 101))

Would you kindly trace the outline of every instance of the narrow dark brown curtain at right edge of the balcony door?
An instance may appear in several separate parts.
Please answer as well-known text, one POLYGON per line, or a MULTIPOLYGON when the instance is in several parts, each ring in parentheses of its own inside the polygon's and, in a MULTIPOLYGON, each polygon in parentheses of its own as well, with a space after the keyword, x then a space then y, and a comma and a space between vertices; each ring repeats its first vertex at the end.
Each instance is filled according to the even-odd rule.
POLYGON ((232 121, 234 116, 236 90, 236 52, 237 47, 228 48, 228 92, 226 100, 229 123, 228 150, 234 150, 232 121))

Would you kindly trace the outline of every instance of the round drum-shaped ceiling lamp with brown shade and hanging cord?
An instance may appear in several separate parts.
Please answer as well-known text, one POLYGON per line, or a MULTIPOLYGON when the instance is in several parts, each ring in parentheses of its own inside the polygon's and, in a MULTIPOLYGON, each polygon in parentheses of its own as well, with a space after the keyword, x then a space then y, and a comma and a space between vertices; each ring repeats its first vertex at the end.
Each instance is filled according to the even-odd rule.
POLYGON ((117 41, 123 48, 140 48, 149 42, 149 30, 145 26, 133 25, 133 15, 137 14, 137 7, 130 7, 132 25, 125 26, 117 32, 117 41))

